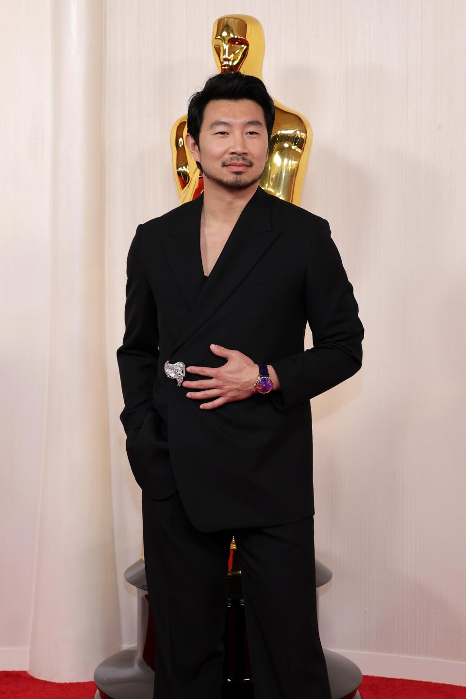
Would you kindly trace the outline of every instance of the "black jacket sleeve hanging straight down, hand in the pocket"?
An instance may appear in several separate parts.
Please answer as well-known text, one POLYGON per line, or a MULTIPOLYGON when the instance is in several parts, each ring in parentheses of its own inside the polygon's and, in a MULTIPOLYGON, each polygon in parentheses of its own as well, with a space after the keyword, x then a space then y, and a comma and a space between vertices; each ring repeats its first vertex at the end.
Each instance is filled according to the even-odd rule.
POLYGON ((123 344, 117 349, 124 409, 119 416, 126 435, 143 424, 152 408, 152 387, 157 373, 159 335, 154 296, 145 274, 139 225, 126 261, 126 304, 123 344))

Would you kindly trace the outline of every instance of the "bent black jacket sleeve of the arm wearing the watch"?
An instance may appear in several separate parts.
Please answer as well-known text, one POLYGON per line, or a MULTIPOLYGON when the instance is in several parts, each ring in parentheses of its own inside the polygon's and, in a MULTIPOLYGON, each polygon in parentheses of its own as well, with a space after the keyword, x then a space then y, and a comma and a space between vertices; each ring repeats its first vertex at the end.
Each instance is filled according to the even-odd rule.
POLYGON ((307 401, 355 374, 363 362, 364 328, 328 221, 312 233, 305 280, 305 308, 314 347, 269 361, 281 391, 270 397, 279 410, 307 401))

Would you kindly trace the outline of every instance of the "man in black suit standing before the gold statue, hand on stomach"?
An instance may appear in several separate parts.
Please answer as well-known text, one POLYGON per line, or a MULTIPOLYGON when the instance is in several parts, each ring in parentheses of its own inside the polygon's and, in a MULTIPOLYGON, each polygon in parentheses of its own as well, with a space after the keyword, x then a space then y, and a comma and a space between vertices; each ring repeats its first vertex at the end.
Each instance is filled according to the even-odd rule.
POLYGON ((256 699, 330 699, 309 399, 361 368, 364 329, 328 222, 258 185, 274 115, 258 78, 207 80, 186 138, 204 192, 139 225, 128 254, 120 418, 159 699, 221 697, 232 535, 256 699))

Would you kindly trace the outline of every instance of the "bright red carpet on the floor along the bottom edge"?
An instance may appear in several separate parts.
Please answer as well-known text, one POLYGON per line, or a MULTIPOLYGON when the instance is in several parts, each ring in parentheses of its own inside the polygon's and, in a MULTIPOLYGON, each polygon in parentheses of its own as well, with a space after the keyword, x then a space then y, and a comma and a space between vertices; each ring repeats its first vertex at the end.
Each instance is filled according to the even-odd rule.
MULTIPOLYGON (((93 699, 95 691, 94 682, 45 682, 25 670, 0 672, 0 699, 93 699)), ((466 699, 466 687, 387 677, 364 677, 359 691, 361 699, 466 699)))

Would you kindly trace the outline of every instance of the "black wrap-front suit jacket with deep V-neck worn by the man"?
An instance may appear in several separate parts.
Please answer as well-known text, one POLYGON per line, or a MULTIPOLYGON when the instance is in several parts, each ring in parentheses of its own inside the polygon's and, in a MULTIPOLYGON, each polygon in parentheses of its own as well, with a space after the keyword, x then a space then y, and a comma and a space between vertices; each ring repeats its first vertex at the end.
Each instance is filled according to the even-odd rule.
POLYGON ((205 279, 203 198, 138 225, 129 248, 117 349, 129 463, 152 498, 178 489, 201 531, 309 517, 310 398, 363 359, 353 287, 326 219, 261 187, 205 279), (304 349, 307 322, 312 349, 304 349), (202 410, 205 399, 187 398, 163 365, 223 365, 210 343, 272 364, 282 390, 202 410))

